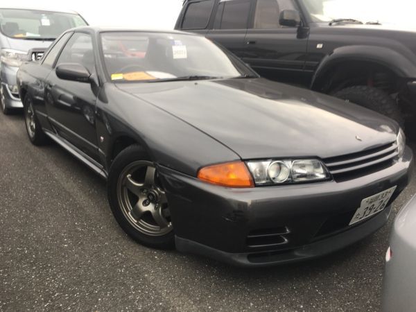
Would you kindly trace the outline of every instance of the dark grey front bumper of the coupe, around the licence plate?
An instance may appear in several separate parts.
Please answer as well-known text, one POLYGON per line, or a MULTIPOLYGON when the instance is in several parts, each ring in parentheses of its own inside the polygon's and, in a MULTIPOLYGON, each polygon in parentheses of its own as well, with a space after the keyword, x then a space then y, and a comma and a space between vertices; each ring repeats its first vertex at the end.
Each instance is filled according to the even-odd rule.
MULTIPOLYGON (((349 227, 361 200, 410 180, 413 153, 392 166, 345 182, 254 189, 217 187, 159 168, 175 227, 177 250, 239 266, 268 266, 319 257, 375 232, 390 206, 349 227)), ((390 205, 389 204, 389 205, 390 205)))

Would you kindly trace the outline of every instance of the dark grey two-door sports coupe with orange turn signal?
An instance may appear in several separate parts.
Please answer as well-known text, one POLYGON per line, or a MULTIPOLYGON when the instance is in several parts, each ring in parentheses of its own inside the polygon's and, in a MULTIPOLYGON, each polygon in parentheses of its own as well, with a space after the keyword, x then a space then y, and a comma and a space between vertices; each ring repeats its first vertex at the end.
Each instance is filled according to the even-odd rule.
POLYGON ((133 239, 241 266, 379 229, 413 155, 397 123, 259 78, 204 37, 77 28, 19 69, 28 137, 108 181, 133 239))

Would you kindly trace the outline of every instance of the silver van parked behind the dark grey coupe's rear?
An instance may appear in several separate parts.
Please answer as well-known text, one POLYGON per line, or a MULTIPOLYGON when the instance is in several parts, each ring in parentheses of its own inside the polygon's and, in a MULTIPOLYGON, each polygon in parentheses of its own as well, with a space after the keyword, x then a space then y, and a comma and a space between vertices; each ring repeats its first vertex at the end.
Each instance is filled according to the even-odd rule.
POLYGON ((52 12, 4 8, 0 6, 0 106, 4 114, 23 107, 16 84, 16 73, 28 57, 42 58, 51 42, 69 28, 87 22, 75 12, 52 12), (34 48, 33 55, 28 51, 34 48))

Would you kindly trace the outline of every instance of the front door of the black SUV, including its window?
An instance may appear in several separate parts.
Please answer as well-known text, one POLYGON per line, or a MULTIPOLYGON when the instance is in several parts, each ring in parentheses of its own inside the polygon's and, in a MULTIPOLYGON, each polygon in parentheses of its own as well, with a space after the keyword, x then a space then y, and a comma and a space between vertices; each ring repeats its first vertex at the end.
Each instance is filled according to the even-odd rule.
POLYGON ((306 85, 308 32, 279 24, 283 10, 300 10, 293 0, 257 0, 241 58, 266 78, 306 85))

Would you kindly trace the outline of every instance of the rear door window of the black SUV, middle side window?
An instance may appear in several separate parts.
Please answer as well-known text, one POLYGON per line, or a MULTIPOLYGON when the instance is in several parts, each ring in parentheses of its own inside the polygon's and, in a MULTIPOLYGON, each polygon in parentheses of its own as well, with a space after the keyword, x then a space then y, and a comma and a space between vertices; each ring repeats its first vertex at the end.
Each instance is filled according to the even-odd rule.
POLYGON ((215 29, 245 29, 250 15, 250 0, 220 1, 214 21, 215 29))

